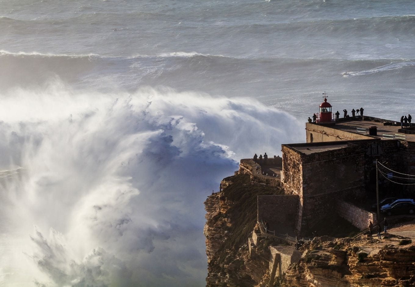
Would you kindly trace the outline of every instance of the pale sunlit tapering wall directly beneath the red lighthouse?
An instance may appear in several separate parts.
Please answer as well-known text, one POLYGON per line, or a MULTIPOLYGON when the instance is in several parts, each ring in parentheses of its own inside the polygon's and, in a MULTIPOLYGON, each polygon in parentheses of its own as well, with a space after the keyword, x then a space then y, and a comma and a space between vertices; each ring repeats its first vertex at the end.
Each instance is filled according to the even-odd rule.
POLYGON ((367 140, 372 139, 367 135, 356 134, 344 130, 330 128, 327 125, 313 123, 305 124, 307 142, 333 142, 338 140, 367 140))

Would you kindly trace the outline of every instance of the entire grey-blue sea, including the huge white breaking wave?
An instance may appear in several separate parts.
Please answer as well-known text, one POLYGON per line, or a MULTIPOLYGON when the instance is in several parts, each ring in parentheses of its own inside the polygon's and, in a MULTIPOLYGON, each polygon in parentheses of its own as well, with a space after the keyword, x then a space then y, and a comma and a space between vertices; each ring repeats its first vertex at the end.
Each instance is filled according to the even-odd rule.
POLYGON ((409 0, 0 0, 0 285, 204 286, 203 201, 322 102, 415 113, 409 0))

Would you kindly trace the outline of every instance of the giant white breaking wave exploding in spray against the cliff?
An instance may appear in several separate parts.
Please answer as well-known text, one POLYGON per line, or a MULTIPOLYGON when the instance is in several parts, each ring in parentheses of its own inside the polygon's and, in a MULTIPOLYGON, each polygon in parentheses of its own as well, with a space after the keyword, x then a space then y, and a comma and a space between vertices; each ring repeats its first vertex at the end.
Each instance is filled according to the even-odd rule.
POLYGON ((206 196, 235 160, 302 139, 247 99, 59 83, 2 96, 0 271, 17 285, 203 285, 206 196))

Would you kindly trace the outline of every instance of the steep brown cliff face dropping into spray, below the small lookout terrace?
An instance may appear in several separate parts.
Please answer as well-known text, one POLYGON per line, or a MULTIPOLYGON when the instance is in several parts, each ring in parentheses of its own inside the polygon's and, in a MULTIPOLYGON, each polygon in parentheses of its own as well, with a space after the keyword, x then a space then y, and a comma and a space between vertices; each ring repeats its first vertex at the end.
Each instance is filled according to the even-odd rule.
MULTIPOLYGON (((242 180, 243 184, 249 184, 249 176, 236 177, 239 177, 239 180, 245 177, 245 180, 242 180)), ((272 240, 259 236, 256 240, 257 246, 252 244, 249 248, 248 237, 252 238, 256 206, 254 204, 242 207, 246 199, 232 194, 233 191, 229 188, 232 184, 234 184, 232 180, 227 178, 226 182, 222 182, 222 188, 226 187, 224 191, 210 195, 205 201, 204 234, 208 262, 206 284, 235 287, 267 286, 269 280, 266 276, 270 257, 268 247, 272 240), (252 214, 247 214, 248 210, 252 214), (248 217, 249 224, 244 223, 245 217, 248 217)), ((260 188, 262 192, 268 191, 264 186, 260 188)), ((255 191, 250 196, 256 199, 255 191)))

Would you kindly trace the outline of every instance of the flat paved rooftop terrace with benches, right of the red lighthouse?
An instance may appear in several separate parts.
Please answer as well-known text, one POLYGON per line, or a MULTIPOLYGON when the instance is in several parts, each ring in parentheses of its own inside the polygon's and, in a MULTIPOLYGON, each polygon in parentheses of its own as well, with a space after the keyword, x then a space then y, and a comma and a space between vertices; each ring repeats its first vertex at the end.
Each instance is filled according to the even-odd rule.
POLYGON ((386 140, 383 138, 384 134, 386 135, 399 134, 399 135, 405 135, 406 140, 409 140, 411 142, 415 141, 415 135, 404 134, 404 133, 398 132, 398 130, 400 130, 400 122, 398 123, 399 125, 383 125, 383 123, 378 123, 376 121, 371 121, 371 120, 348 120, 348 121, 336 123, 336 125, 330 126, 330 128, 335 128, 338 130, 344 130, 348 132, 355 132, 355 133, 359 133, 363 135, 369 135, 369 128, 376 126, 377 135, 373 137, 378 137, 383 140, 386 140), (366 129, 366 133, 357 132, 356 128, 364 128, 366 129))

